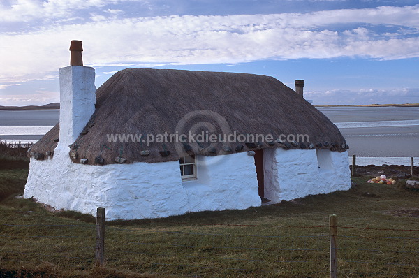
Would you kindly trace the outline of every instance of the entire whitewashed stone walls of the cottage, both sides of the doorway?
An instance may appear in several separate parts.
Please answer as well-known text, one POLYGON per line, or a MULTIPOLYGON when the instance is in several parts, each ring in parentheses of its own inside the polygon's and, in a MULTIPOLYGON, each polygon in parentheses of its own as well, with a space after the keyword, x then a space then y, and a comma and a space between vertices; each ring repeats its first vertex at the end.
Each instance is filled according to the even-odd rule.
MULTIPOLYGON (((265 197, 274 203, 351 187, 346 152, 325 151, 330 168, 319 168, 316 150, 265 149, 265 197)), ((253 156, 198 156, 198 180, 182 182, 179 161, 90 166, 72 163, 68 147, 54 157, 31 159, 25 198, 57 209, 107 217, 143 219, 203 210, 259 206, 253 156)))

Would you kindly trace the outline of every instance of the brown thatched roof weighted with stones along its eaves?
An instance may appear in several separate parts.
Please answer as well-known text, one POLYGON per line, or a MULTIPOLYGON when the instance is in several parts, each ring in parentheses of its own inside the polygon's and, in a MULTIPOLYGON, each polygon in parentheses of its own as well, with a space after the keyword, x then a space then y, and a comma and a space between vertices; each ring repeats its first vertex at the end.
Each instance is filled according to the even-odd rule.
MULTIPOLYGON (((32 147, 31 154, 52 155, 56 138, 59 138, 58 124, 32 147)), ((275 78, 244 73, 127 68, 97 89, 96 112, 72 147, 69 154, 75 163, 108 164, 177 161, 184 150, 189 154, 214 156, 266 147, 342 152, 347 145, 335 124, 275 78), (184 146, 160 141, 147 146, 145 142, 108 142, 107 137, 109 134, 157 136, 176 131, 187 134, 190 130, 198 134, 201 131, 272 134, 274 139, 281 134, 307 134, 309 142, 258 140, 253 145, 217 142, 184 146)), ((42 155, 38 157, 42 159, 42 155)))

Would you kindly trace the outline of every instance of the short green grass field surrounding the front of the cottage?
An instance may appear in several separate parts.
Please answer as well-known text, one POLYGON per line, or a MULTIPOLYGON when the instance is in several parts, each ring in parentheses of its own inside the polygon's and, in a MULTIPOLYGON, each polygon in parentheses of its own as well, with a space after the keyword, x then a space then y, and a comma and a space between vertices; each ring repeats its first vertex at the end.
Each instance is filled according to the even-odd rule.
POLYGON ((0 168, 0 277, 328 277, 330 214, 339 277, 419 275, 419 191, 357 177, 349 191, 277 205, 110 221, 95 269, 94 217, 13 198, 27 177, 13 163, 0 168))

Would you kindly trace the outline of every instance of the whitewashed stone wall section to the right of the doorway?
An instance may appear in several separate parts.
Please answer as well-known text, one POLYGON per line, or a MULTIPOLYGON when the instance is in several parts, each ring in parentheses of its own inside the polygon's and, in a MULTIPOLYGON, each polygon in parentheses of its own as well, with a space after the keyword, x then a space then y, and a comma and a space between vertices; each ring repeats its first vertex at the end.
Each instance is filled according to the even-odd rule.
POLYGON ((265 149, 264 159, 265 197, 274 203, 351 188, 347 152, 265 149))

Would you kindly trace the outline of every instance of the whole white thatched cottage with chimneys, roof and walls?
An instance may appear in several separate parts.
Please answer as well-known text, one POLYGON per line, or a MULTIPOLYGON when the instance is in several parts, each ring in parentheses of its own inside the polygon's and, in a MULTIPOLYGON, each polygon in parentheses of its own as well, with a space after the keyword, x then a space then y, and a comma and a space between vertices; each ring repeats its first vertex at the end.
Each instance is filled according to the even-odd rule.
POLYGON ((349 189, 345 139, 302 80, 297 94, 263 75, 127 68, 96 90, 81 51, 59 71, 59 124, 29 150, 25 198, 142 219, 349 189))

